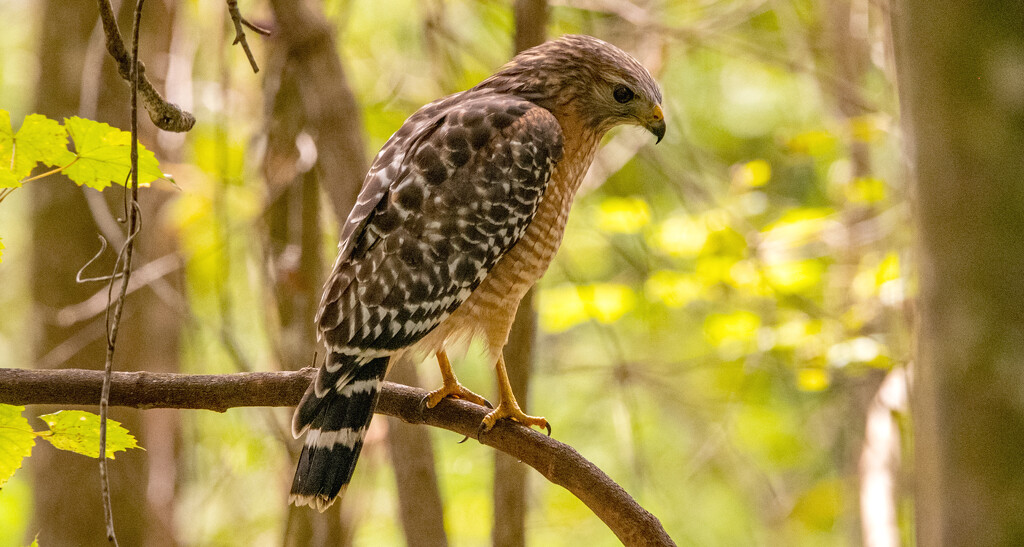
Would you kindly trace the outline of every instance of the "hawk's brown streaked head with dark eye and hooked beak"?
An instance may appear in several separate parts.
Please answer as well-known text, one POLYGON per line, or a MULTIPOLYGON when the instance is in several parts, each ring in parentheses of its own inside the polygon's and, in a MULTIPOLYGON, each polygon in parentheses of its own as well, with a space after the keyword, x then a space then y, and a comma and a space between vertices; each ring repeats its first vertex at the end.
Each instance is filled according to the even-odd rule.
POLYGON ((566 35, 529 48, 478 89, 512 93, 556 115, 571 113, 596 132, 621 125, 665 136, 662 91, 629 53, 591 36, 566 35))

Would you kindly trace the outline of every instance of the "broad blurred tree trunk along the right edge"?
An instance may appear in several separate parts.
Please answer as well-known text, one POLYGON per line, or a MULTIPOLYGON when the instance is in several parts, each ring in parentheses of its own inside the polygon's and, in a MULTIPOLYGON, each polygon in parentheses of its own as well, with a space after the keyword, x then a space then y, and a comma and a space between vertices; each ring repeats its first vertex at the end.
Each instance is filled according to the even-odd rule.
POLYGON ((915 169, 921 545, 1024 544, 1024 4, 893 13, 915 169))

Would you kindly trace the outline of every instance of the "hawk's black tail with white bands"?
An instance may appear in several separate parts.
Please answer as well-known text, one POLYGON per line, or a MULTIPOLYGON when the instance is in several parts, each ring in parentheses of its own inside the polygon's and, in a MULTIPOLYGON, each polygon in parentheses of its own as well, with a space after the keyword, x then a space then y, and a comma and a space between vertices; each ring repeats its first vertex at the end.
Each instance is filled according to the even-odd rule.
POLYGON ((292 433, 306 431, 289 502, 321 512, 344 494, 374 416, 390 357, 331 353, 295 409, 292 433))

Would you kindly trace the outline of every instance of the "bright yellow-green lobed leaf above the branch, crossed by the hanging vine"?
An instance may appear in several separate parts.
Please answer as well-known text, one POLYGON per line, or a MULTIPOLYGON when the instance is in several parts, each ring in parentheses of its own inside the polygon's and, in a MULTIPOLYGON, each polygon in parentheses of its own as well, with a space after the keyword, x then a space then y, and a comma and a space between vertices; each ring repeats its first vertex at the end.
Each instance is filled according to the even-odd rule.
MULTIPOLYGON (((111 183, 124 185, 131 170, 131 133, 84 118, 65 119, 65 128, 75 144, 78 159, 63 170, 78 185, 103 190, 111 183)), ((166 178, 157 157, 138 145, 138 182, 148 184, 166 178)))

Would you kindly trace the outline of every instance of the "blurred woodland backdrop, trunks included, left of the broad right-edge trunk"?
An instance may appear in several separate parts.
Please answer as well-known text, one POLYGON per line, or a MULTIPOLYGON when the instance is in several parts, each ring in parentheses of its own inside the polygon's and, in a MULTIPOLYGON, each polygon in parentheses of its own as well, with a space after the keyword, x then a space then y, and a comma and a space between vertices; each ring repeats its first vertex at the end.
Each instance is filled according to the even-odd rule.
MULTIPOLYGON (((146 2, 146 74, 199 122, 171 134, 142 117, 175 184, 142 191, 144 285, 118 369, 308 366, 339 211, 387 137, 508 60, 517 33, 590 34, 649 68, 669 129, 657 146, 634 128, 606 138, 535 291, 536 338, 510 349, 532 355, 527 411, 680 544, 854 545, 868 523, 909 541, 897 471, 914 288, 888 3, 559 0, 518 2, 518 16, 513 4, 309 0, 326 25, 286 36, 291 3, 242 1, 274 31, 248 33, 253 74, 223 2, 146 2)), ((0 109, 15 126, 38 112, 128 127, 93 2, 0 0, 0 109)), ((0 203, 0 366, 101 367, 102 287, 73 280, 97 233, 123 240, 121 200, 50 177, 0 203)), ((460 379, 493 396, 490 366, 465 350, 460 379)), ((403 369, 438 382, 432 361, 403 369)), ((494 485, 522 472, 496 477, 490 449, 446 431, 412 428, 402 444, 402 425, 377 417, 344 502, 311 518, 286 505, 289 409, 112 417, 146 449, 113 464, 123 545, 417 545, 411 514, 440 510, 449 544, 486 545, 494 485), (417 490, 430 480, 399 488, 410 450, 434 466, 439 498, 417 490)), ((37 446, 0 491, 0 545, 105 544, 95 467, 37 446)), ((566 491, 525 476, 524 525, 503 522, 508 535, 617 544, 566 491)))

